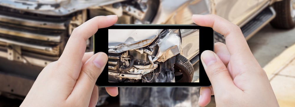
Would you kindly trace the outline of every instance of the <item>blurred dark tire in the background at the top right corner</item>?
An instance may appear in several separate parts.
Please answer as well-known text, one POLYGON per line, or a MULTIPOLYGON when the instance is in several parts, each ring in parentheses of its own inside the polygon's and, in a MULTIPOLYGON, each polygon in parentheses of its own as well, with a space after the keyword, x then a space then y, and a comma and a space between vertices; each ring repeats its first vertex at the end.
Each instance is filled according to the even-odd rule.
POLYGON ((271 26, 278 29, 292 29, 295 19, 291 17, 290 0, 283 0, 273 4, 276 17, 270 22, 271 26))

